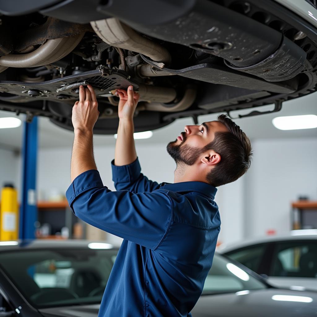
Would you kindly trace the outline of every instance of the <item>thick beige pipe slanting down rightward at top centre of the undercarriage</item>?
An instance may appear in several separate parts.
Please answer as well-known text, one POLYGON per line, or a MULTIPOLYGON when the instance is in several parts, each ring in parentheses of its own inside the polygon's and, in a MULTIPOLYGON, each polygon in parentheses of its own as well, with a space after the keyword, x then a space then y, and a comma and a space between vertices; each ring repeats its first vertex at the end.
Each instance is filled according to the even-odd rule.
POLYGON ((96 34, 107 44, 142 53, 153 61, 170 63, 171 55, 161 45, 136 33, 116 18, 90 22, 96 34))

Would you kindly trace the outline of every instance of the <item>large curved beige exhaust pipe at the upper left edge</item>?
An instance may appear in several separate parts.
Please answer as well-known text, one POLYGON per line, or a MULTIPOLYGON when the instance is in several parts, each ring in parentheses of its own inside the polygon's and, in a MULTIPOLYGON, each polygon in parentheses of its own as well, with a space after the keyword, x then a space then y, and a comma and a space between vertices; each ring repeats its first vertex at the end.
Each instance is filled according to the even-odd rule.
POLYGON ((9 54, 0 57, 0 66, 36 67, 53 63, 68 55, 81 41, 84 33, 48 40, 38 49, 27 54, 9 54))

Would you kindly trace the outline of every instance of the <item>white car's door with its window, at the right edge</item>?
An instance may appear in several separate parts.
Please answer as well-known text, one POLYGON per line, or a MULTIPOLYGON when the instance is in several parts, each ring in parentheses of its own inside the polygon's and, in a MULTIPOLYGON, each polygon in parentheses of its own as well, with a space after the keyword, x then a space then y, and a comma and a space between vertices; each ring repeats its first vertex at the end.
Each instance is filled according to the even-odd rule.
POLYGON ((317 290, 317 241, 276 242, 268 275, 276 286, 317 290))

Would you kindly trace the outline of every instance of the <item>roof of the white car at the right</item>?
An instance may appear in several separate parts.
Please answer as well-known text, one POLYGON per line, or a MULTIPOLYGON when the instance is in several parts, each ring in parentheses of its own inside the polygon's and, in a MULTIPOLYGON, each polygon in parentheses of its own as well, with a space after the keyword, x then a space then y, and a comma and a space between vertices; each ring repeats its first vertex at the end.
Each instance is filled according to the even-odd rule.
MULTIPOLYGON (((302 230, 293 230, 293 231, 302 231, 302 230)), ((256 245, 256 244, 281 242, 281 241, 298 241, 298 240, 317 240, 317 234, 313 234, 313 235, 296 234, 295 232, 295 234, 289 234, 289 235, 255 237, 255 238, 239 241, 236 243, 230 243, 230 244, 223 243, 217 248, 217 251, 220 254, 223 254, 235 249, 241 249, 241 248, 248 247, 251 245, 256 245)))

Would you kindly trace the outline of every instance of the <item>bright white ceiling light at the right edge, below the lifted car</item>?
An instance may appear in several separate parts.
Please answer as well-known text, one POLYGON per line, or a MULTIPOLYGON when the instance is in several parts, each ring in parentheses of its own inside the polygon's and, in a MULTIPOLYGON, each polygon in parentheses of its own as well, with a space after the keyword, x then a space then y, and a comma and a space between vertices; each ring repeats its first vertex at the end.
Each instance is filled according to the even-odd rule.
POLYGON ((301 116, 276 117, 272 120, 273 126, 280 130, 299 130, 317 128, 317 116, 305 114, 301 116))

